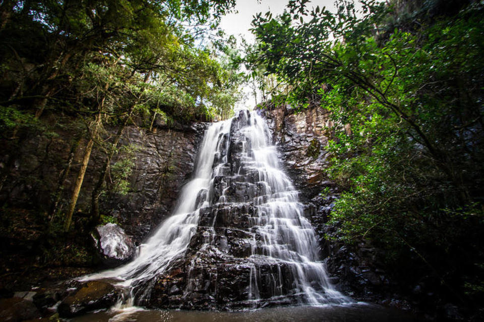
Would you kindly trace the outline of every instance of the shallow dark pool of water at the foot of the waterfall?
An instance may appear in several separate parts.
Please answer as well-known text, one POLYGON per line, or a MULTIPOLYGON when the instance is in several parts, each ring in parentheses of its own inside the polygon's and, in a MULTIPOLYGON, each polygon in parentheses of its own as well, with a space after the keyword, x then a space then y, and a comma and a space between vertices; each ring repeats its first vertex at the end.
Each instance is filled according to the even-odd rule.
POLYGON ((394 308, 365 303, 285 306, 243 311, 145 310, 140 307, 101 311, 72 322, 407 322, 422 319, 394 308))

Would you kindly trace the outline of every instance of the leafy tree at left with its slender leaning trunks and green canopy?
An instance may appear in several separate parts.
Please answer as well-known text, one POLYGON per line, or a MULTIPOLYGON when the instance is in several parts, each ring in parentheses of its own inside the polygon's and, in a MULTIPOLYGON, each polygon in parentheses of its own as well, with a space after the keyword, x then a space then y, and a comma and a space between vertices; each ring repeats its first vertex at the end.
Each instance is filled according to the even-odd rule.
POLYGON ((8 81, 1 84, 0 104, 12 111, 5 114, 5 124, 17 123, 8 126, 16 140, 2 182, 16 159, 15 147, 30 133, 21 119, 33 114, 42 123, 46 113, 83 119, 87 143, 64 227, 71 225, 93 149, 106 155, 92 194, 93 218, 98 218, 109 160, 134 114, 157 111, 188 121, 230 110, 225 104, 233 103, 230 95, 240 84, 236 67, 228 68, 227 62, 222 67, 213 51, 195 42, 200 30, 213 30, 233 6, 233 0, 2 3, 2 15, 9 19, 2 22, 0 54, 8 81), (120 124, 107 145, 106 124, 120 124))

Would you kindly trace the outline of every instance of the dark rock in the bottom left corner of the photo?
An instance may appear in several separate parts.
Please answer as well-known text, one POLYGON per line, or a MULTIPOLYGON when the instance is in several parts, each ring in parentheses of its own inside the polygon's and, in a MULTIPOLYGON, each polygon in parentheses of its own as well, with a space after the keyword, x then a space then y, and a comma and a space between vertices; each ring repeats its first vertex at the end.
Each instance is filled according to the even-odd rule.
POLYGON ((0 321, 18 322, 38 317, 40 313, 32 301, 20 297, 0 299, 0 321))

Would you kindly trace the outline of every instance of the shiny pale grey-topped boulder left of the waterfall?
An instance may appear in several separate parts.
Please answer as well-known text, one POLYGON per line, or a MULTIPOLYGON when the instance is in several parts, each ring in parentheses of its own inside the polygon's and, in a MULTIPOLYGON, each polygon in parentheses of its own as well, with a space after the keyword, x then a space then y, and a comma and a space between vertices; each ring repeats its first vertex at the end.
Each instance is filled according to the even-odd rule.
POLYGON ((135 245, 131 236, 116 224, 97 226, 91 235, 102 262, 108 267, 116 267, 131 260, 135 245))

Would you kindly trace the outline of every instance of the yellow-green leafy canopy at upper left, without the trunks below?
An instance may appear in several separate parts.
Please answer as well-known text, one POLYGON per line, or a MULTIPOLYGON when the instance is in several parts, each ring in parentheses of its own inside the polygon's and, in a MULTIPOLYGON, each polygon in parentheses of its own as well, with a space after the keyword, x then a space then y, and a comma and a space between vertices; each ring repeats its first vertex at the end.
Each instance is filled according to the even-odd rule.
MULTIPOLYGON (((119 102, 150 87, 161 99, 157 103, 178 113, 174 117, 211 116, 201 102, 236 92, 225 81, 237 72, 196 45, 195 31, 215 28, 233 5, 232 0, 21 2, 10 9, 2 30, 4 106, 33 103, 40 116, 48 102, 50 109, 58 104, 82 113, 91 106, 90 94, 109 93, 119 102), (184 99, 177 102, 178 97, 184 99), (187 104, 183 111, 181 104, 187 104)), ((230 108, 216 101, 216 111, 230 108)))

